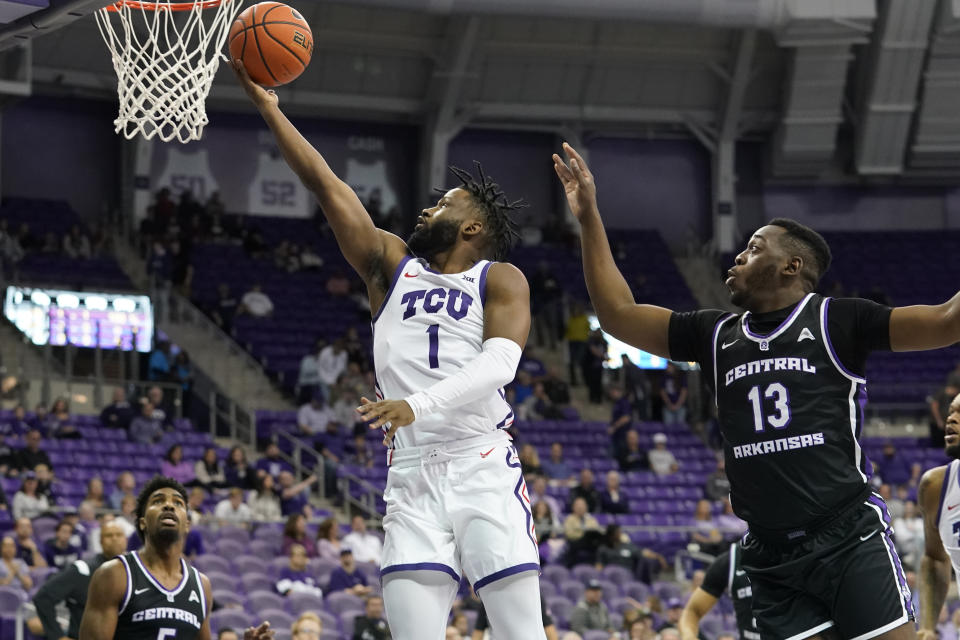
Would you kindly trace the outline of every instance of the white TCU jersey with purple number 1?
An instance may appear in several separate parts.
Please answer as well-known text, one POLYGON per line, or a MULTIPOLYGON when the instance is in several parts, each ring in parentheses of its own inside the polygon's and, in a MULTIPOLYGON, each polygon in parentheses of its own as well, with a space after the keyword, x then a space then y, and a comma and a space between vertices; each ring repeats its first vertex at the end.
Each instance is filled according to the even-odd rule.
MULTIPOLYGON (((377 397, 403 398, 457 373, 483 345, 487 270, 481 260, 462 273, 437 273, 422 259, 404 258, 373 318, 377 397)), ((513 424, 503 390, 455 410, 424 415, 399 429, 395 449, 451 442, 513 424)))

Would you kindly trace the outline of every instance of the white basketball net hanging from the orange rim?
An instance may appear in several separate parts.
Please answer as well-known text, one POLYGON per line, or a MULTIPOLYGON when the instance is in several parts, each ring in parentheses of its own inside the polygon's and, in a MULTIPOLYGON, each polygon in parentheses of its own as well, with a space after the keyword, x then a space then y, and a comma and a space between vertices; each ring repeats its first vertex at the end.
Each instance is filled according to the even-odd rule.
POLYGON ((221 58, 227 59, 221 50, 242 4, 154 0, 120 2, 111 6, 115 11, 97 11, 97 26, 117 72, 117 133, 128 139, 138 133, 148 140, 157 136, 164 142, 200 139, 208 122, 207 94, 221 58))

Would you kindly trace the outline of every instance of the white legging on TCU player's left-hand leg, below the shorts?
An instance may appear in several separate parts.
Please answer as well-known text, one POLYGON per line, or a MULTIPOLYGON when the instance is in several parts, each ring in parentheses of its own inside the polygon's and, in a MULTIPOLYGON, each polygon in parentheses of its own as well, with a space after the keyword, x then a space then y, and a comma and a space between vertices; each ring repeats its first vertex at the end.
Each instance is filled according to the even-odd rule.
POLYGON ((458 587, 441 571, 398 571, 385 576, 383 605, 394 640, 444 640, 458 587))

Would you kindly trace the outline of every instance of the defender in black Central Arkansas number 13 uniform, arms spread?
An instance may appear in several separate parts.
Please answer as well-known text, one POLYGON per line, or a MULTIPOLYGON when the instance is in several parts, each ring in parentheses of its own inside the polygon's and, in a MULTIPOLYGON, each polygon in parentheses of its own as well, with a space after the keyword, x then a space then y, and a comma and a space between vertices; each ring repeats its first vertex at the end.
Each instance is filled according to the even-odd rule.
POLYGON ((593 176, 572 147, 564 152, 569 165, 555 155, 554 168, 580 221, 601 326, 658 356, 698 362, 714 389, 731 502, 750 527, 743 567, 763 638, 914 638, 890 515, 870 492, 858 442, 863 375, 871 351, 960 341, 960 293, 896 309, 819 296, 829 247, 777 219, 753 234, 728 273, 731 301, 744 313, 636 304, 614 263, 593 176))

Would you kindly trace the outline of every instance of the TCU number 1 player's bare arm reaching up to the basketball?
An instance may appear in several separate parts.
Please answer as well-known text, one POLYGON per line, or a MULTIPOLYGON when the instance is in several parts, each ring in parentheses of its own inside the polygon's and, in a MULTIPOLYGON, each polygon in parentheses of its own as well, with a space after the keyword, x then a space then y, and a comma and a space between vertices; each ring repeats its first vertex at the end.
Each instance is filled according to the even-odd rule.
MULTIPOLYGON (((377 229, 357 194, 337 177, 323 156, 280 111, 277 94, 258 86, 243 63, 233 69, 247 95, 273 132, 284 160, 303 184, 316 195, 347 262, 367 286, 385 292, 390 274, 406 255, 406 245, 397 236, 377 229)), ((371 306, 376 309, 371 301, 371 306)))

